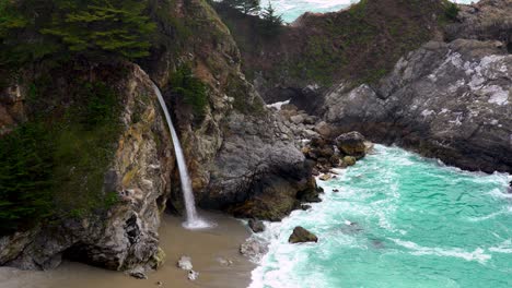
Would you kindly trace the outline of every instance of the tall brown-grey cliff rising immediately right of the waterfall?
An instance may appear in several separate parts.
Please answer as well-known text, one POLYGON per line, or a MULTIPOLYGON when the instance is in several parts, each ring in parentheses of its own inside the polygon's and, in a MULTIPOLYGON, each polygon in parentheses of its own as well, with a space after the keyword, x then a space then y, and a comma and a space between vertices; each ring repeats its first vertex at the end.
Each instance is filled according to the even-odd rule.
MULTIPOLYGON (((161 49, 146 65, 166 92, 170 107, 179 107, 171 110, 181 131, 199 205, 233 212, 234 206, 254 199, 284 199, 287 204, 276 207, 271 216, 263 213, 266 207, 243 214, 283 217, 296 206, 301 193, 314 193, 304 156, 291 135, 288 141, 280 137, 279 120, 245 80, 238 48, 217 13, 197 0, 176 1, 171 13, 184 23, 194 19, 188 25, 194 37, 185 40, 177 55, 173 49, 161 49), (173 68, 183 63, 189 64, 208 85, 208 106, 199 122, 190 117, 183 99, 170 92, 173 86, 166 82, 173 68), (277 185, 284 188, 277 191, 277 185)), ((182 195, 177 184, 173 191, 171 206, 179 211, 182 195)))

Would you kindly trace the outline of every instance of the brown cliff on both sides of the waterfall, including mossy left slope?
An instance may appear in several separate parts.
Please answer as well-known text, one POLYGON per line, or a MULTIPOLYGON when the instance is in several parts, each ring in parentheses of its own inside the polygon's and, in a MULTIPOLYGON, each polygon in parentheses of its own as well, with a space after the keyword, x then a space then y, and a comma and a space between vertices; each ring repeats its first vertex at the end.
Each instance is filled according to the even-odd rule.
POLYGON ((0 265, 51 268, 65 256, 138 274, 163 261, 160 215, 166 207, 181 212, 183 201, 151 80, 168 103, 200 206, 276 220, 317 193, 293 137, 282 140, 279 119, 241 72, 237 47, 216 12, 202 0, 151 3, 162 38, 140 61, 148 72, 133 63, 39 63, 2 92, 2 133, 31 123, 38 110, 45 128, 57 127, 49 131, 57 135, 51 143, 60 177, 55 214, 0 237, 0 265), (168 81, 184 65, 207 87, 201 117, 168 81), (105 89, 116 95, 112 103, 94 96, 105 89), (90 108, 93 116, 107 111, 108 121, 82 117, 90 108), (278 200, 282 205, 272 206, 278 200))

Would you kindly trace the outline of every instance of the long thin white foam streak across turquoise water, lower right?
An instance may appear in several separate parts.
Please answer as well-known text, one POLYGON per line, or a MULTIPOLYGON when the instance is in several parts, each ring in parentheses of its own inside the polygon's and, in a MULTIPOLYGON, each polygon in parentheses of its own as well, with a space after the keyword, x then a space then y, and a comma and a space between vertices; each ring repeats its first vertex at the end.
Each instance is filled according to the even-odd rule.
POLYGON ((477 261, 480 264, 485 264, 488 260, 492 256, 486 254, 484 249, 477 248, 473 252, 467 252, 459 248, 451 248, 451 249, 443 249, 443 248, 429 248, 422 247, 411 241, 403 241, 400 239, 393 239, 389 238, 396 244, 407 248, 411 250, 410 254, 412 255, 435 255, 435 256, 445 256, 445 257, 458 257, 464 259, 466 261, 477 261))

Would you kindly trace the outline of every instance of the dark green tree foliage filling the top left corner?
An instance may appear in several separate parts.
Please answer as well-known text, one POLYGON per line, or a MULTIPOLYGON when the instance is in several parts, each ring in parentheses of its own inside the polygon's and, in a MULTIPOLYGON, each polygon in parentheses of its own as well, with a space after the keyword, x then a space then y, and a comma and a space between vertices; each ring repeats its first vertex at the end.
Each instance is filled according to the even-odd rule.
MULTIPOLYGON (((137 0, 0 0, 0 70, 56 62, 136 59, 149 55, 155 24, 137 0)), ((5 73, 5 74, 8 74, 5 73)))

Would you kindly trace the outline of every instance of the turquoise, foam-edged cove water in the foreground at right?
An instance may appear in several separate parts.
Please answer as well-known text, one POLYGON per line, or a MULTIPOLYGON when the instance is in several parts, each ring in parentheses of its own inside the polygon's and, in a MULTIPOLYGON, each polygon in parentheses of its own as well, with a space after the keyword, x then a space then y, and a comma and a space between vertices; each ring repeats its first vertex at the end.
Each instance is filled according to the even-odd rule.
POLYGON ((319 181, 322 203, 267 224, 251 288, 512 287, 510 180, 377 145, 319 181), (319 242, 289 244, 295 226, 319 242))

